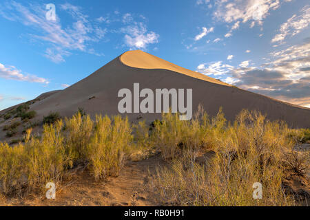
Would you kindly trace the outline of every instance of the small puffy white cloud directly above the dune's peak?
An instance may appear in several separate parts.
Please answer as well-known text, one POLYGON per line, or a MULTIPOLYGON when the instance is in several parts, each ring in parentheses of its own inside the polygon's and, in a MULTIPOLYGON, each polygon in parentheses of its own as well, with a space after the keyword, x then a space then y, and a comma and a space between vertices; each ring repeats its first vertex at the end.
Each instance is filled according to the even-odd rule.
POLYGON ((125 43, 132 49, 145 49, 148 44, 158 43, 159 35, 155 32, 147 32, 143 23, 134 23, 127 28, 122 28, 125 33, 125 43))

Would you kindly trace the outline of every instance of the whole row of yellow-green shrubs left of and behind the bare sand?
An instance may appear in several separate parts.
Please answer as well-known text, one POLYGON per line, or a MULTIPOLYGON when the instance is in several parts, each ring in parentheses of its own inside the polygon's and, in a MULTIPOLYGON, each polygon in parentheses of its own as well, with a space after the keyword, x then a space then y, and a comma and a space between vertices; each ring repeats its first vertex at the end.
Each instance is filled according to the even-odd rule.
POLYGON ((25 143, 0 143, 0 194, 31 192, 50 181, 59 183, 63 172, 83 163, 95 179, 118 175, 132 146, 132 129, 120 116, 96 117, 76 113, 72 118, 44 124, 40 138, 27 130, 25 143))

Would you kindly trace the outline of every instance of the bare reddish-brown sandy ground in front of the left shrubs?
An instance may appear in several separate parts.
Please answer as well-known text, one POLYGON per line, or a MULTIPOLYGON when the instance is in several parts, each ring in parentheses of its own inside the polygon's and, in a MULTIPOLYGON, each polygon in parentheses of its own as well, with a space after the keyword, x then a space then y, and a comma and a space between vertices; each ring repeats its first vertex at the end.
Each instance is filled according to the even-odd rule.
POLYGON ((128 162, 118 177, 95 182, 86 171, 77 170, 56 190, 56 199, 45 194, 24 199, 0 199, 4 206, 152 206, 152 196, 145 190, 149 174, 163 165, 160 155, 139 162, 128 162))

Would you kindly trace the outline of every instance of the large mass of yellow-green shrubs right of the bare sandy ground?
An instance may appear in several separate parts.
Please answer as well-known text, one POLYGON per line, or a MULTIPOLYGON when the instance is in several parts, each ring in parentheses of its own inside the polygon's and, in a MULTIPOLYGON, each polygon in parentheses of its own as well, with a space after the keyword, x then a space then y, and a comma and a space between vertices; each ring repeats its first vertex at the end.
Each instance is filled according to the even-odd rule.
MULTIPOLYGON (((286 124, 269 122, 255 111, 242 111, 232 126, 226 123, 222 111, 211 120, 201 120, 200 117, 200 122, 194 119, 191 124, 176 122, 177 118, 173 117, 168 114, 162 122, 165 133, 173 133, 172 136, 164 137, 163 134, 158 135, 161 131, 156 131, 158 137, 163 137, 159 139, 159 146, 176 149, 177 143, 187 138, 187 144, 199 146, 197 142, 200 143, 200 137, 205 146, 211 146, 215 156, 206 164, 198 164, 196 146, 178 150, 172 167, 159 168, 154 178, 154 189, 158 192, 160 203, 180 206, 294 204, 293 198, 285 195, 282 188, 286 169, 284 158, 294 146, 287 138, 289 129, 286 124), (174 139, 180 127, 174 125, 179 123, 191 127, 192 134, 179 133, 174 139), (199 135, 199 130, 204 130, 203 133, 211 135, 211 138, 199 135), (262 184, 262 199, 252 197, 255 182, 262 184)), ((159 124, 157 129, 161 129, 159 124)), ((198 151, 205 152, 206 149, 200 148, 198 151)), ((166 155, 163 154, 164 159, 167 159, 166 155)))

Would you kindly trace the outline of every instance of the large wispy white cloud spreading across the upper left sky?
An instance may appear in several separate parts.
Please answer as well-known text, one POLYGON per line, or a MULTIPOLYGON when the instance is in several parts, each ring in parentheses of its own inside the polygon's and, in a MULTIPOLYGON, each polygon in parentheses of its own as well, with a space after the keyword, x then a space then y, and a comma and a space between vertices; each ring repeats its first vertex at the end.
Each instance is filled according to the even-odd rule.
POLYGON ((90 43, 103 39, 106 30, 88 21, 88 17, 81 12, 81 8, 70 3, 60 5, 59 10, 68 12, 75 20, 71 25, 63 28, 59 17, 56 17, 56 21, 45 19, 46 10, 43 6, 25 7, 21 3, 10 1, 10 3, 0 4, 0 15, 36 30, 39 34, 29 34, 29 36, 48 43, 45 56, 56 63, 65 61, 64 56, 71 54, 71 50, 88 52, 90 43))

